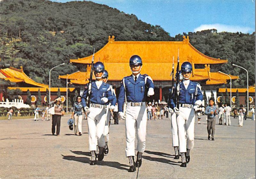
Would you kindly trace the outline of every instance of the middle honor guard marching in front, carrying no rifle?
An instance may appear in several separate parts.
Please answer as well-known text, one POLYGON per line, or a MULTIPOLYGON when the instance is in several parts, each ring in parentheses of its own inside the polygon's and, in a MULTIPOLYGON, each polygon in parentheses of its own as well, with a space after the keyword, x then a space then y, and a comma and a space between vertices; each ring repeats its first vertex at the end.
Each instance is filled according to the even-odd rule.
POLYGON ((128 172, 134 172, 136 170, 134 162, 135 133, 137 131, 136 167, 140 167, 141 156, 146 147, 147 109, 145 100, 146 95, 154 95, 154 84, 148 75, 140 74, 142 68, 140 56, 134 55, 130 58, 130 68, 132 75, 123 78, 117 103, 118 114, 122 119, 125 119, 125 154, 130 162, 128 172), (123 110, 124 103, 126 104, 125 112, 123 110))

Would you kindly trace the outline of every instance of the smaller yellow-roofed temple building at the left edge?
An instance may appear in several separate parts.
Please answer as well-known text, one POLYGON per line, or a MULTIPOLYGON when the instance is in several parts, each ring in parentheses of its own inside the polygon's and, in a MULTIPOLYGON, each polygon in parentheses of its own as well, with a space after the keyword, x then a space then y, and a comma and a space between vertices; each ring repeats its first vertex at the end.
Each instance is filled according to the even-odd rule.
MULTIPOLYGON (((49 86, 37 83, 31 78, 29 78, 23 71, 22 66, 20 69, 9 67, 5 69, 0 69, 0 79, 8 82, 16 83, 16 85, 12 85, 12 87, 8 87, 8 89, 20 89, 22 91, 22 95, 19 96, 24 102, 27 100, 27 91, 29 90, 31 93, 31 104, 34 105, 36 103, 38 89, 41 93, 42 104, 46 103, 46 91, 49 91, 49 86)), ((66 88, 60 88, 61 101, 64 102, 66 100, 66 88)), ((69 88, 72 93, 75 88, 69 88)), ((51 100, 57 97, 58 88, 51 87, 51 100)), ((5 101, 6 99, 6 91, 0 91, 0 101, 5 101), (5 96, 5 97, 4 97, 5 96)))

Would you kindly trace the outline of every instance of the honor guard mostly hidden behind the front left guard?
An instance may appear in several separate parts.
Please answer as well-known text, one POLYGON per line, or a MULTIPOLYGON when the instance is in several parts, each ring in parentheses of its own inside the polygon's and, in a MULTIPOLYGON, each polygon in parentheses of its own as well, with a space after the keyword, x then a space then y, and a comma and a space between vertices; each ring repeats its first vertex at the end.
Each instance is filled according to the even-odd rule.
MULTIPOLYGON (((107 83, 108 81, 108 71, 104 70, 103 71, 103 76, 102 76, 102 80, 104 83, 107 83)), ((107 120, 105 123, 105 128, 104 128, 104 139, 105 139, 105 146, 104 146, 104 153, 108 154, 109 150, 108 150, 108 141, 109 141, 109 125, 110 125, 110 109, 113 110, 116 106, 116 93, 113 90, 113 87, 110 85, 110 89, 112 91, 112 95, 114 97, 114 99, 108 104, 108 114, 107 114, 107 120)))

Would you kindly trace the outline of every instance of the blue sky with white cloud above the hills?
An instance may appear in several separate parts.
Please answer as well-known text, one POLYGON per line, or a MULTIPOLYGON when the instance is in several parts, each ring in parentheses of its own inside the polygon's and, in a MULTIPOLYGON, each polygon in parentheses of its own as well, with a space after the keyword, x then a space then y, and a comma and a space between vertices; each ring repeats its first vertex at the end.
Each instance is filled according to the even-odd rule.
MULTIPOLYGON (((72 0, 52 0, 65 3, 72 0)), ((92 0, 160 25, 171 36, 215 28, 218 32, 255 31, 255 0, 92 0)))

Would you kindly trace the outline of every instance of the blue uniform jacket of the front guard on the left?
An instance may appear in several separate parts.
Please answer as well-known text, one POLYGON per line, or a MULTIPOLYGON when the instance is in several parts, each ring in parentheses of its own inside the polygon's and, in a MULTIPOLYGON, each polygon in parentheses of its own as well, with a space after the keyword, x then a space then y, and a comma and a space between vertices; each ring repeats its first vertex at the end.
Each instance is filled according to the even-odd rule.
MULTIPOLYGON (((82 96, 82 105, 83 107, 86 106, 86 98, 87 98, 87 91, 88 91, 87 84, 84 89, 84 93, 82 96)), ((108 105, 109 101, 112 101, 114 99, 112 91, 110 89, 110 85, 107 83, 102 83, 100 88, 97 88, 97 85, 95 82, 92 82, 92 90, 91 90, 91 103, 101 104, 101 105, 108 105), (101 98, 106 97, 108 98, 108 102, 104 103, 101 101, 101 98)))

